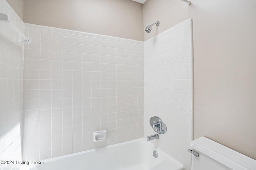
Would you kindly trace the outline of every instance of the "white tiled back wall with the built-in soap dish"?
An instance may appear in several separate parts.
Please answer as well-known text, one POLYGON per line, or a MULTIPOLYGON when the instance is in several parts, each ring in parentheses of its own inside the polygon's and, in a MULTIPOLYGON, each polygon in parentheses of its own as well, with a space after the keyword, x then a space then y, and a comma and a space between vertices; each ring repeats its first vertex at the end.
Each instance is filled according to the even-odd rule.
POLYGON ((24 159, 143 137, 143 42, 26 24, 24 159), (108 139, 93 142, 93 131, 108 139))

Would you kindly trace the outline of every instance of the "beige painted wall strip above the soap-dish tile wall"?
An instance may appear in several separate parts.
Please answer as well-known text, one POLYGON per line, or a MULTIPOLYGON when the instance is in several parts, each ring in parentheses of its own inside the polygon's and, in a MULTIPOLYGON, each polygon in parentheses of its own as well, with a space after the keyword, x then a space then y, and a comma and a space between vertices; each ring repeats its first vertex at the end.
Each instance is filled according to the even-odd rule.
POLYGON ((132 0, 24 0, 24 22, 143 41, 143 6, 132 0))

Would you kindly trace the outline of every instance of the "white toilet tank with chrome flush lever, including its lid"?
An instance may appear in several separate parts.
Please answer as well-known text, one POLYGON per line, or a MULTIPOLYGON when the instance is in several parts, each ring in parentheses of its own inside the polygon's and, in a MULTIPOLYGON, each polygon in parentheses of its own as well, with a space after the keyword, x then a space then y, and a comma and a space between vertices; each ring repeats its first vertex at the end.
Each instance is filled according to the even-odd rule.
POLYGON ((192 141, 190 147, 199 154, 192 155, 192 170, 256 170, 256 160, 206 137, 192 141))

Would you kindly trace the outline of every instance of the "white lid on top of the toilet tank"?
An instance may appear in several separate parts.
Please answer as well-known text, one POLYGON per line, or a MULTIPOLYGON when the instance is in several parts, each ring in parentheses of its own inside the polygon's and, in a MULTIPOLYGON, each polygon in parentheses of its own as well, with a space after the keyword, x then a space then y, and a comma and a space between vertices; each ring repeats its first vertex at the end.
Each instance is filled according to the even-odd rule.
MULTIPOLYGON (((206 154, 233 170, 255 170, 256 160, 235 150, 225 147, 206 137, 200 137, 190 143, 190 147, 206 154)), ((200 153, 199 153, 200 156, 200 153)))

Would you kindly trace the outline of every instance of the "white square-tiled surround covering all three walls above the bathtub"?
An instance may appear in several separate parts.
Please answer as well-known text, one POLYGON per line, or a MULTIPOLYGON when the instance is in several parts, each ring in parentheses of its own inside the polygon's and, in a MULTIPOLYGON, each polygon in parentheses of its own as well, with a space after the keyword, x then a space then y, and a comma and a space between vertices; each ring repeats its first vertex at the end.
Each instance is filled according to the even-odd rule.
POLYGON ((147 137, 155 133, 150 117, 159 116, 167 133, 152 143, 191 168, 192 19, 143 42, 27 24, 0 3, 32 39, 19 47, 17 33, 0 25, 1 160, 42 160, 147 137), (100 130, 107 140, 94 142, 100 130))

